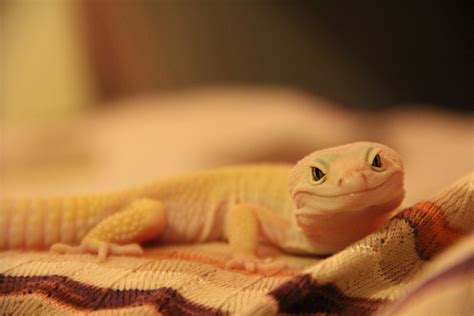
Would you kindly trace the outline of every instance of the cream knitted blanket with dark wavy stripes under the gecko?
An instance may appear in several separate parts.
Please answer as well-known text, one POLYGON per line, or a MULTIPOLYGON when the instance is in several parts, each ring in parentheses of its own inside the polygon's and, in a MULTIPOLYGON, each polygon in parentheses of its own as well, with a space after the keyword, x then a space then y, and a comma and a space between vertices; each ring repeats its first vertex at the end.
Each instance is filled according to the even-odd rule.
POLYGON ((0 253, 0 315, 474 314, 473 174, 328 258, 226 270, 224 243, 152 245, 140 258, 0 253))

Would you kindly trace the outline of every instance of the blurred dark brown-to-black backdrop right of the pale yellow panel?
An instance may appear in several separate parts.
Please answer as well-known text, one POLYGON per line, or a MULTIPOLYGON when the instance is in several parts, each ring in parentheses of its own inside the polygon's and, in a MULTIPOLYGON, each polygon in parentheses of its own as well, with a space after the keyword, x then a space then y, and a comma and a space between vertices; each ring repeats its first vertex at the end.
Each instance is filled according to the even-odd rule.
POLYGON ((462 2, 85 2, 103 97, 196 85, 303 89, 359 108, 472 106, 462 2))

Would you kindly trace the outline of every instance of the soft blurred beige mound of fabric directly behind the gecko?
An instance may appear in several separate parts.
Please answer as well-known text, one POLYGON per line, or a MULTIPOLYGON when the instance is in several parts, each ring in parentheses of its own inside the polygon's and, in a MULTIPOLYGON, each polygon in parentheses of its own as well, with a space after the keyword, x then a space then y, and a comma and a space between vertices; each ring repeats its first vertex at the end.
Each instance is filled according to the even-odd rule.
POLYGON ((473 169, 473 122, 416 106, 351 112, 287 89, 182 91, 74 119, 6 122, 2 192, 110 191, 217 165, 296 161, 318 148, 372 140, 402 154, 409 205, 473 169))

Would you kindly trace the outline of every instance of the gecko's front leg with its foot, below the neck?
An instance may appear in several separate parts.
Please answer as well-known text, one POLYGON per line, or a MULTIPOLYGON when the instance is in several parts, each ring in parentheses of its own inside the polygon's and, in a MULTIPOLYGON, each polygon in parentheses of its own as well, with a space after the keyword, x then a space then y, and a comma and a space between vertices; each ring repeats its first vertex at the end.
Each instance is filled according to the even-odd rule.
POLYGON ((264 207, 239 204, 227 213, 226 231, 232 258, 226 263, 230 269, 245 269, 250 272, 272 272, 287 267, 285 262, 262 259, 257 256, 259 237, 263 236, 261 223, 285 228, 286 221, 264 207))

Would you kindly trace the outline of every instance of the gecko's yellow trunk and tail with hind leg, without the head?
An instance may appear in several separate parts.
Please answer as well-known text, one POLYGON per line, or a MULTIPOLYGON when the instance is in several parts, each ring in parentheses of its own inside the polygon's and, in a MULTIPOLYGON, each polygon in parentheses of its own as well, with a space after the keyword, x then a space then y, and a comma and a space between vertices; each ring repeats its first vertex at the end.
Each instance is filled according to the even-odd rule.
POLYGON ((276 164, 222 167, 118 193, 1 199, 0 249, 54 245, 57 252, 94 252, 104 244, 157 238, 167 243, 226 239, 226 214, 241 203, 291 216, 290 169, 276 164))

